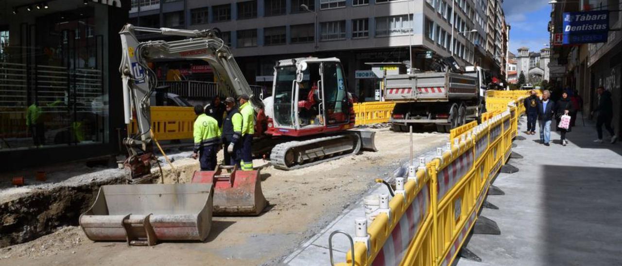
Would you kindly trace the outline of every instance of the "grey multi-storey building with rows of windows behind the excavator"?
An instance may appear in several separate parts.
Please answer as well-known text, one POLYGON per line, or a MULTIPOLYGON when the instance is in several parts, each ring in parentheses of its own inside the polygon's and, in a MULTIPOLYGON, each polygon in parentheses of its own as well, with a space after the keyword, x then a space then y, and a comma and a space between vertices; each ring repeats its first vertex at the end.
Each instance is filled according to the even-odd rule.
MULTIPOLYGON (((145 27, 220 29, 251 84, 270 85, 277 60, 338 57, 351 90, 369 98, 378 80, 356 75, 371 69, 366 63, 412 60, 414 68, 429 70, 430 56, 450 55, 463 66, 475 63, 476 47, 486 36, 497 35, 485 31, 490 19, 477 11, 476 2, 486 1, 140 0, 132 1, 129 17, 145 27)), ((486 61, 481 58, 486 56, 480 53, 478 60, 486 61)), ((190 69, 189 64, 198 63, 173 67, 190 69)))

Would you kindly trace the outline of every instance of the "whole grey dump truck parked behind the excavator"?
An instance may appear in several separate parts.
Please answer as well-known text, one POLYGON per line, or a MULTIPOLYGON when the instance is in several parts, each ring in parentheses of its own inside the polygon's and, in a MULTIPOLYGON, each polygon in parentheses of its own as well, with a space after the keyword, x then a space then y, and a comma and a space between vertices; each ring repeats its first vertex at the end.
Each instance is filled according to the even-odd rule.
POLYGON ((396 103, 389 119, 394 131, 435 124, 437 131, 449 132, 485 112, 488 83, 480 67, 462 71, 447 65, 444 71, 387 75, 383 82, 384 100, 396 103))

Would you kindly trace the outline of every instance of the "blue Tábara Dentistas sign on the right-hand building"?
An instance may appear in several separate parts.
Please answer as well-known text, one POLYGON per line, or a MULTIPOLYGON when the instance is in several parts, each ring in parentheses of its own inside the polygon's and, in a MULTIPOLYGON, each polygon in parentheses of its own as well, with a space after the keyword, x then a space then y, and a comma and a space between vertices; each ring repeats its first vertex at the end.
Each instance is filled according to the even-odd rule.
POLYGON ((564 45, 607 42, 608 32, 608 10, 564 12, 564 45))

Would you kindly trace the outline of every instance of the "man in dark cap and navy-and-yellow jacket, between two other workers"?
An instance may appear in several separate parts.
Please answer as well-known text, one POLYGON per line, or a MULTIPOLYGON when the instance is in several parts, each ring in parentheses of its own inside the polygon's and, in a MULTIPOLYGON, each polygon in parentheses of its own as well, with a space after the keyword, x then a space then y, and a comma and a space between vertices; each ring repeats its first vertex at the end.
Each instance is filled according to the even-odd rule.
POLYGON ((225 99, 227 116, 223 121, 223 147, 225 147, 225 164, 237 165, 242 156, 242 115, 236 108, 235 99, 225 99))

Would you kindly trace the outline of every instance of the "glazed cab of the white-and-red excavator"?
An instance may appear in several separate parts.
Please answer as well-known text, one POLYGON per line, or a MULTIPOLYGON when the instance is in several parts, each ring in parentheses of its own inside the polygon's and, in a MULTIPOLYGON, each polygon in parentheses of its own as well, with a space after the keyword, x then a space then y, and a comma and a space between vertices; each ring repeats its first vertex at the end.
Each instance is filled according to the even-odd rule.
POLYGON ((304 135, 306 129, 351 122, 351 104, 339 59, 282 60, 274 73, 274 127, 304 135))

